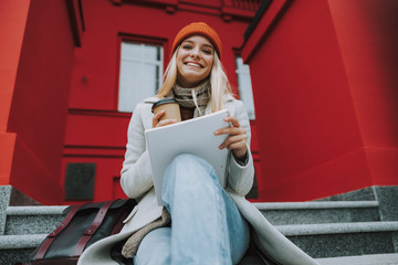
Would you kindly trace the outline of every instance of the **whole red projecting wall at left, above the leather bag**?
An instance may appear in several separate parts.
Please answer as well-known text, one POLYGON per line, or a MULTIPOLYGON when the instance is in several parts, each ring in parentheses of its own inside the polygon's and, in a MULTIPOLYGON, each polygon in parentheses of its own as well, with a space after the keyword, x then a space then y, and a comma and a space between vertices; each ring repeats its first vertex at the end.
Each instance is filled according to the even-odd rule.
POLYGON ((0 2, 0 186, 42 203, 63 202, 76 14, 73 1, 0 2))

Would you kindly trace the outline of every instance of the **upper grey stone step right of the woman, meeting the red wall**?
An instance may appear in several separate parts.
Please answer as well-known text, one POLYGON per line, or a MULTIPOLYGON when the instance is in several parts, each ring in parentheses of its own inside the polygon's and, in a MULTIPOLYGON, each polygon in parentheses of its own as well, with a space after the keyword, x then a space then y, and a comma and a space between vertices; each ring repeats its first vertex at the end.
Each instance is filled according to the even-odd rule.
POLYGON ((377 201, 254 203, 274 225, 380 221, 377 201))

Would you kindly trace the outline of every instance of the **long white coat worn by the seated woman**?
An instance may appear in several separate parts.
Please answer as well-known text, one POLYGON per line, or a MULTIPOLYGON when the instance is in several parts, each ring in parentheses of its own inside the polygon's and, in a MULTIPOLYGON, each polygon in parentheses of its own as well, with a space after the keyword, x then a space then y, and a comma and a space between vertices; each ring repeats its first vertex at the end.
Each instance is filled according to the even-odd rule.
MULTIPOLYGON (((150 160, 146 149, 144 131, 151 128, 151 105, 158 100, 150 97, 138 104, 130 119, 127 137, 127 150, 122 169, 122 188, 129 198, 137 200, 138 204, 126 219, 126 223, 116 235, 105 237, 85 250, 77 265, 117 265, 109 256, 112 246, 127 237, 135 231, 144 227, 161 215, 161 206, 158 205, 151 176, 150 160)), ((224 106, 230 110, 240 125, 248 132, 248 148, 250 146, 250 124, 247 110, 242 102, 228 96, 224 106)), ((210 106, 206 114, 210 113, 210 106)), ((297 246, 290 242, 262 215, 259 210, 244 199, 253 183, 254 168, 252 156, 249 150, 249 161, 240 166, 230 156, 230 174, 228 176, 227 192, 237 204, 241 214, 253 227, 254 239, 260 250, 268 256, 283 265, 315 265, 317 264, 297 246)))

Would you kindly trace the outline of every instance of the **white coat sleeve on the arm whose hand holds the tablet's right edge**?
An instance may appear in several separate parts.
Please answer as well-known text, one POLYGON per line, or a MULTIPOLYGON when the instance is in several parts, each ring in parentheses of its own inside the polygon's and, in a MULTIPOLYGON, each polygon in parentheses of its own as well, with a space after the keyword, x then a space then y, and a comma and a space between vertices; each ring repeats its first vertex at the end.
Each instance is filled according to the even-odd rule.
POLYGON ((245 165, 240 165, 232 153, 230 155, 229 161, 229 176, 228 184, 229 187, 237 192, 239 195, 244 197, 249 193, 250 189, 253 186, 254 179, 254 166, 253 158, 250 151, 250 141, 251 141, 251 131, 248 112, 241 100, 234 100, 235 110, 234 117, 238 119, 239 124, 243 129, 245 129, 248 135, 248 160, 245 165))

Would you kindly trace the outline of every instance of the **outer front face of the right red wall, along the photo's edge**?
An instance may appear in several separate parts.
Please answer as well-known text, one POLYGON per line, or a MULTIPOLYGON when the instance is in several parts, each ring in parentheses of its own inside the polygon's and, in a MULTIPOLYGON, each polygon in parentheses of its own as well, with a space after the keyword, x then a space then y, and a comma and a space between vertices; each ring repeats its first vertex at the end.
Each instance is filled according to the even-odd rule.
POLYGON ((329 1, 373 184, 398 184, 398 2, 329 1))

